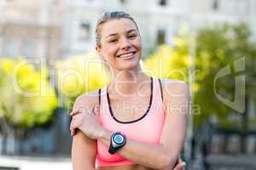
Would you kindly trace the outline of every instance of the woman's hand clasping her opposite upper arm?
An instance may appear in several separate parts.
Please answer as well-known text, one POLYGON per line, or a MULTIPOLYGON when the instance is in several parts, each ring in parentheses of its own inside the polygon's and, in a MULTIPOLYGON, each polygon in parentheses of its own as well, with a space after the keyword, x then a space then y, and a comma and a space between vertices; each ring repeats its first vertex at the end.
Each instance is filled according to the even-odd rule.
POLYGON ((90 139, 97 139, 103 132, 102 126, 98 122, 99 111, 96 108, 93 111, 86 110, 83 107, 75 107, 70 113, 72 122, 70 123, 71 135, 75 134, 75 129, 79 128, 90 139))

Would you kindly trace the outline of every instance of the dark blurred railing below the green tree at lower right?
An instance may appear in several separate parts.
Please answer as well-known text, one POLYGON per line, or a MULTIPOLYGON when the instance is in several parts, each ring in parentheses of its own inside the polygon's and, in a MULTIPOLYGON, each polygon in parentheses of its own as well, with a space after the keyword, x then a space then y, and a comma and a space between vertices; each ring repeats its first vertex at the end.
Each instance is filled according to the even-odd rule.
POLYGON ((191 169, 197 170, 256 170, 256 131, 242 132, 241 130, 224 130, 215 126, 211 121, 207 121, 198 129, 193 139, 192 162, 195 165, 191 169), (216 143, 213 138, 222 136, 224 144, 216 143), (227 150, 228 141, 232 136, 239 137, 236 143, 236 150, 227 150), (243 153, 241 139, 247 137, 254 138, 254 146, 251 154, 243 153), (218 151, 212 150, 212 145, 218 151))

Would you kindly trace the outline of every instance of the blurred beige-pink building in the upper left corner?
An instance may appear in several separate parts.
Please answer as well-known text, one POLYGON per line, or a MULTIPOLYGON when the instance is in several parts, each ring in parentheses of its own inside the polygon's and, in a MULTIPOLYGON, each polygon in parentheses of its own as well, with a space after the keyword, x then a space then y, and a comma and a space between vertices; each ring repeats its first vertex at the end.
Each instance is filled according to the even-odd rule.
POLYGON ((1 0, 0 56, 58 57, 61 13, 61 0, 1 0))

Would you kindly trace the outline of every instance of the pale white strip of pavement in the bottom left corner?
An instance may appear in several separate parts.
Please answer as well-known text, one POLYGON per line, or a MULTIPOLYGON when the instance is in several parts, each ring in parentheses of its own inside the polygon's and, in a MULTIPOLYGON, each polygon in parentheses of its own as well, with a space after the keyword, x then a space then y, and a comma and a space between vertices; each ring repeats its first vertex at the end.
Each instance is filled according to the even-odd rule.
POLYGON ((70 158, 0 156, 0 170, 72 170, 70 158))

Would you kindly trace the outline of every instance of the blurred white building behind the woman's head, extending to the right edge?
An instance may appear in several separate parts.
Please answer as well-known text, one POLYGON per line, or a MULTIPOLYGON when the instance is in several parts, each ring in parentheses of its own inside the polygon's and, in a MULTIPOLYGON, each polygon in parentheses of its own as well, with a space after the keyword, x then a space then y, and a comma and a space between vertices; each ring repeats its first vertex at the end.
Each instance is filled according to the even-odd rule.
POLYGON ((173 36, 184 27, 195 32, 201 26, 245 21, 256 39, 254 0, 67 0, 62 56, 95 48, 96 20, 106 10, 124 10, 137 20, 143 57, 161 42, 172 45, 173 36))

